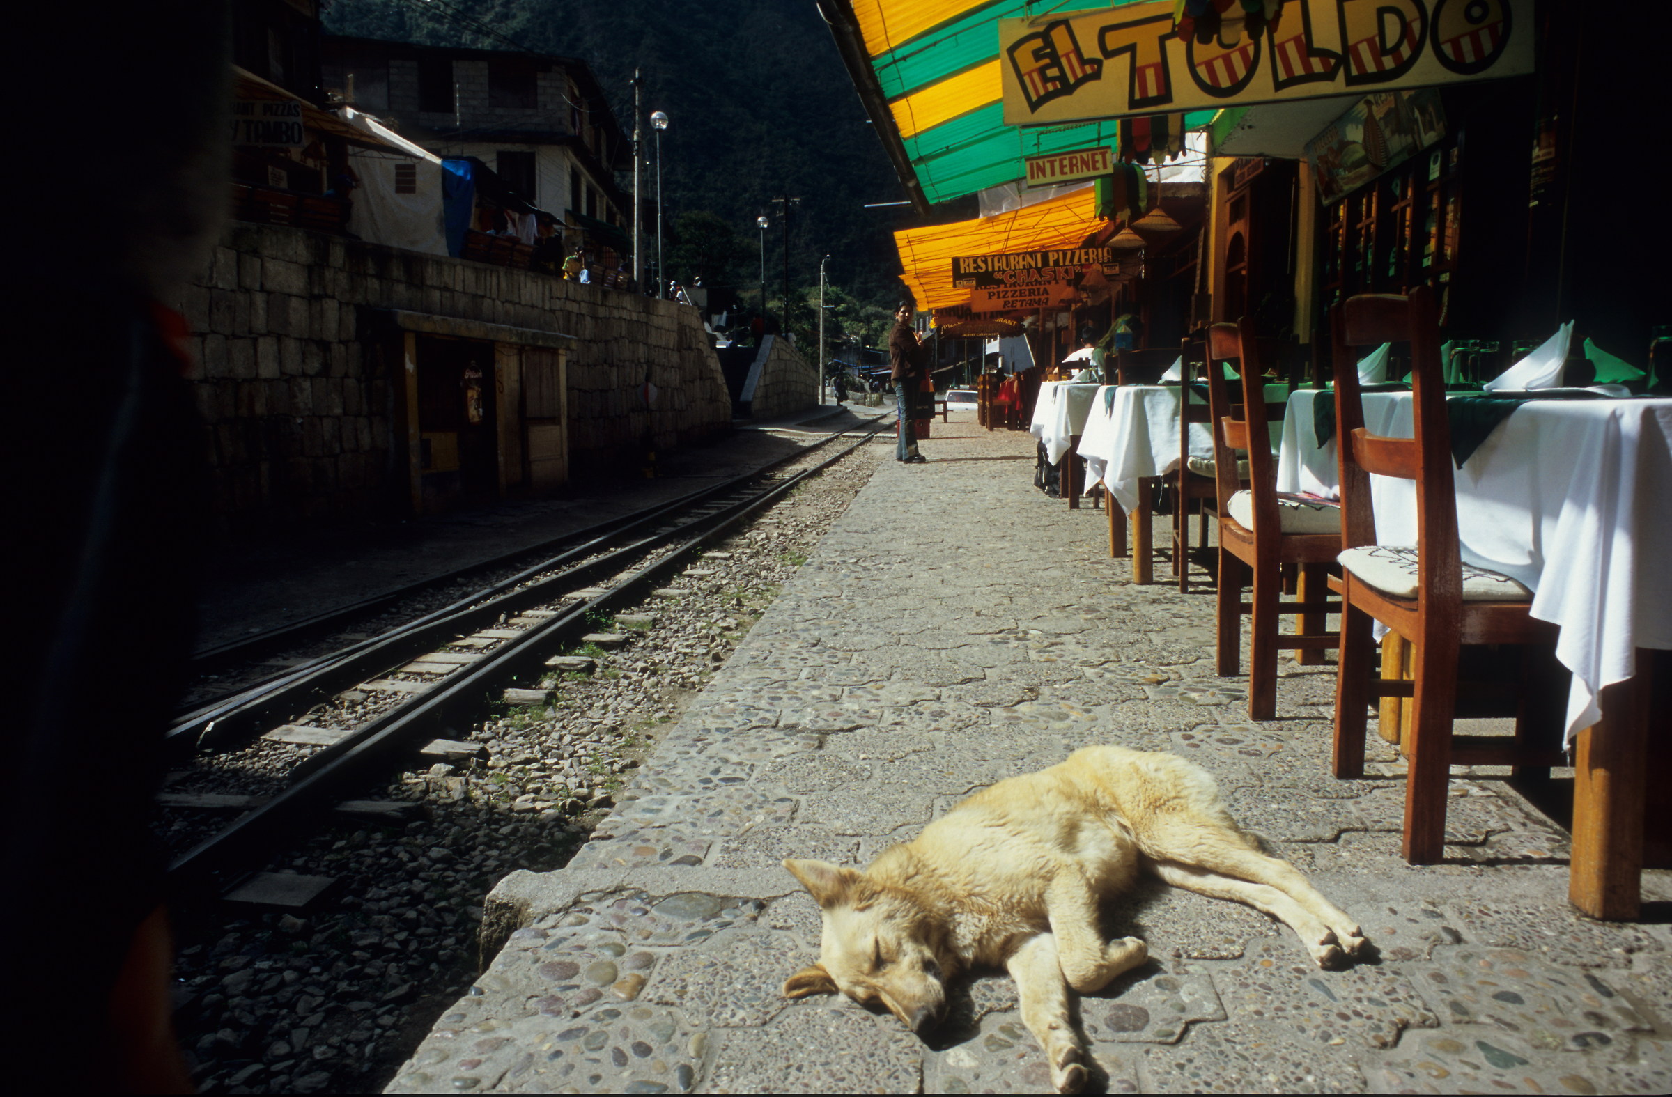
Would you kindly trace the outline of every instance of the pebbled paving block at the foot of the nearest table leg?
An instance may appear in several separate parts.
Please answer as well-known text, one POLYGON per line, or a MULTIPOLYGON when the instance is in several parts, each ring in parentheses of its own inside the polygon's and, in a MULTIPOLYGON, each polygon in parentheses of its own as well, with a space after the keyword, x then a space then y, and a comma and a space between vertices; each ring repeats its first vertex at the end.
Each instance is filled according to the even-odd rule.
POLYGON ((1446 903, 1471 945, 1517 948, 1578 968, 1630 968, 1639 955, 1665 952, 1665 926, 1592 921, 1572 908, 1513 901, 1446 903))

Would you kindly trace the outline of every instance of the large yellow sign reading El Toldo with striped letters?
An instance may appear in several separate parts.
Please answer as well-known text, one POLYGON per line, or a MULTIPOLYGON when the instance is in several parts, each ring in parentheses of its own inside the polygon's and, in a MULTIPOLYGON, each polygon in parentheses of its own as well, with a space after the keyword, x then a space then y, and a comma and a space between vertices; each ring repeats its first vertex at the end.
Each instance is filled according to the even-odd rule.
MULTIPOLYGON (((1227 15, 1237 12, 1232 5, 1227 15)), ((998 22, 1005 122, 1040 125, 1386 92, 1533 70, 1533 0, 1284 0, 1206 45, 1174 0, 998 22)))

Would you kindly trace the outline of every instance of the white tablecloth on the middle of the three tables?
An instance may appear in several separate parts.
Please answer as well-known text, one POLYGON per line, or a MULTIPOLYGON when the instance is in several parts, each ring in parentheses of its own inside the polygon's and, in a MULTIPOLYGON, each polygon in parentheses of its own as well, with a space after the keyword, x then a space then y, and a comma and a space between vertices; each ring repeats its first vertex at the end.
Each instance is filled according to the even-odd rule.
MULTIPOLYGON (((1137 507, 1139 480, 1164 477, 1179 467, 1177 385, 1105 385, 1097 390, 1092 415, 1080 433, 1087 485, 1102 482, 1127 513, 1137 507)), ((1267 400, 1282 400, 1286 385, 1267 385, 1267 400)), ((1190 403, 1206 403, 1190 393, 1190 403)), ((1277 423, 1271 425, 1272 441, 1277 423)), ((1207 423, 1190 423, 1190 457, 1212 457, 1207 423)))

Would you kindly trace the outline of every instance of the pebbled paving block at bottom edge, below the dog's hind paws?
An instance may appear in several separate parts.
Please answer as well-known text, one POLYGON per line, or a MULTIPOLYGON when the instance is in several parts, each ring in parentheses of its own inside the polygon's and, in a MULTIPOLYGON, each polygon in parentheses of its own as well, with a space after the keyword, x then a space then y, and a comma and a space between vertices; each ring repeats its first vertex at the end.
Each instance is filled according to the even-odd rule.
POLYGON ((1194 1025, 1175 1047, 1144 1050, 1152 1094, 1361 1094, 1364 1075, 1284 1025, 1194 1025))

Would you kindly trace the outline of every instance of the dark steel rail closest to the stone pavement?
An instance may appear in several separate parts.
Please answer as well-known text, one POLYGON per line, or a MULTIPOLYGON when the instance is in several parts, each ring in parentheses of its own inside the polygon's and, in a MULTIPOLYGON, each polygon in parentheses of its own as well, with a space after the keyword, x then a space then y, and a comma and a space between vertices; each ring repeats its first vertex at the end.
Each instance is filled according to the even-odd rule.
POLYGON ((247 861, 251 856, 264 851, 281 831, 294 834, 298 823, 308 814, 324 814, 319 808, 339 796, 344 786, 351 786, 370 776, 373 768, 381 764, 386 753, 405 746, 408 739, 418 734, 430 732, 455 707, 466 704, 480 707, 495 682, 540 666, 542 656, 550 651, 553 640, 579 635, 589 627, 587 620, 590 614, 607 612, 615 605, 629 602, 642 590, 652 589, 706 543, 756 510, 774 503, 801 482, 824 472, 861 445, 866 445, 883 430, 886 430, 886 425, 868 431, 851 446, 824 458, 818 465, 774 483, 752 498, 739 500, 721 515, 712 515, 717 520, 711 528, 692 533, 664 557, 644 565, 615 587, 528 629, 513 640, 507 640, 478 662, 470 664, 468 669, 436 682, 433 689, 385 712, 348 737, 314 754, 304 763, 296 783, 288 789, 176 858, 169 865, 167 873, 171 888, 201 886, 212 873, 224 871, 236 861, 247 861))

